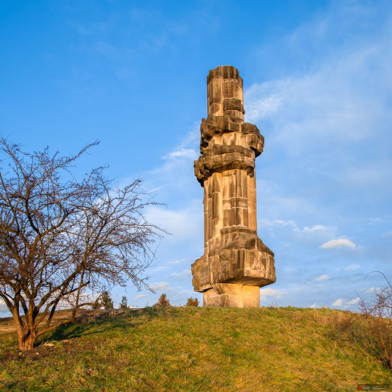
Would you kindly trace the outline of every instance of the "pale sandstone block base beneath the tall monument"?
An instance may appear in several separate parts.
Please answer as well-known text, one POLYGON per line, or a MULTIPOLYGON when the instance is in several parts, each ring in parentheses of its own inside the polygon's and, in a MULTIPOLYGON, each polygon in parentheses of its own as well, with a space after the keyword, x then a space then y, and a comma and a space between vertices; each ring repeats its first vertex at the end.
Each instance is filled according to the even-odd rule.
POLYGON ((218 283, 203 292, 203 306, 259 308, 260 287, 218 283))

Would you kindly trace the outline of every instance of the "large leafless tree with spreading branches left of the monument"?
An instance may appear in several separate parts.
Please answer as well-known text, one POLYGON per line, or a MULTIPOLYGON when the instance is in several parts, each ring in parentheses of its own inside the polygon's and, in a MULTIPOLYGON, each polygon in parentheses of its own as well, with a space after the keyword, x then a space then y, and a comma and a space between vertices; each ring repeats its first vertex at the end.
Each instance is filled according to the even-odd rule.
POLYGON ((145 271, 163 230, 142 212, 156 203, 143 193, 141 180, 120 188, 104 176, 104 167, 77 180, 75 161, 95 144, 60 157, 48 148, 22 152, 0 139, 7 167, 0 171, 0 297, 21 350, 93 305, 91 292, 129 280, 149 288, 145 271), (71 309, 67 320, 54 322, 58 307, 71 309))

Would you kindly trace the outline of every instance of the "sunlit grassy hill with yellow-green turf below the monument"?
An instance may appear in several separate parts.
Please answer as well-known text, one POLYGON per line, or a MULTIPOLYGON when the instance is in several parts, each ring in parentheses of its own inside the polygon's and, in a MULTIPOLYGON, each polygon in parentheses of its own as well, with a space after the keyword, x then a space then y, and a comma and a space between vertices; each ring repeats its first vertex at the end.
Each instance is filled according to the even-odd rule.
POLYGON ((0 339, 0 390, 356 390, 392 372, 344 331, 347 312, 133 310, 64 326, 33 352, 0 339))

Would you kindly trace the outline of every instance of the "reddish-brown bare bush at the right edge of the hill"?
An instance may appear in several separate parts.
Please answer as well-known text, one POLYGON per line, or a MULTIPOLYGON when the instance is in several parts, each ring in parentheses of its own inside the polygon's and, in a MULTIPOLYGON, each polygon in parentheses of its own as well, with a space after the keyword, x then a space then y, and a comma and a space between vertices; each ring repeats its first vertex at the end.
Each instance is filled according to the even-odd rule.
MULTIPOLYGON (((380 273, 384 276, 384 274, 380 273)), ((375 291, 372 301, 360 302, 363 316, 363 343, 392 370, 392 286, 384 276, 387 285, 375 291)))

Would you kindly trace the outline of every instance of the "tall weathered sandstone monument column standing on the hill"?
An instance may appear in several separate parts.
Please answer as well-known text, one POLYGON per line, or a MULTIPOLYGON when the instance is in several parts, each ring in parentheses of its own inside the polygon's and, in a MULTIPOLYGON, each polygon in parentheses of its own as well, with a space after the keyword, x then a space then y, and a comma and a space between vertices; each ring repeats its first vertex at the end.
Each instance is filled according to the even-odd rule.
POLYGON ((244 122, 237 69, 209 72, 207 110, 194 162, 204 187, 204 255, 192 264, 192 284, 204 306, 259 307, 259 288, 276 281, 274 255, 257 235, 255 158, 264 137, 244 122))

